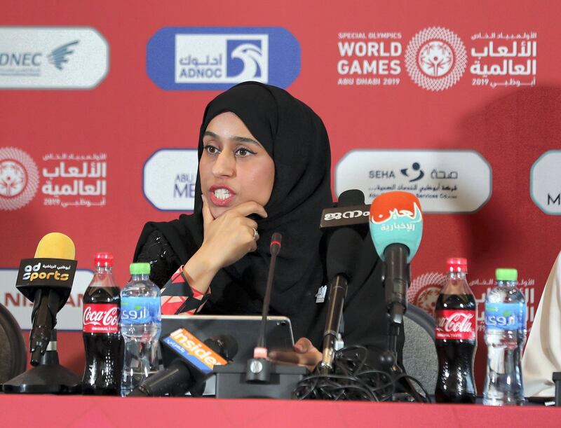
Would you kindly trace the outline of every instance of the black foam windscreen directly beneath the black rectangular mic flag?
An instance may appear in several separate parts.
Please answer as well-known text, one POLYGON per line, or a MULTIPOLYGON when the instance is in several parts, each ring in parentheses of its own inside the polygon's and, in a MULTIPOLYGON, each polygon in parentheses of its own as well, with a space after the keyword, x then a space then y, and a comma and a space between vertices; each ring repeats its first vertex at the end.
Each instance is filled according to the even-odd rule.
POLYGON ((327 244, 327 279, 344 275, 350 280, 356 265, 357 251, 363 239, 353 228, 339 228, 334 231, 327 244))

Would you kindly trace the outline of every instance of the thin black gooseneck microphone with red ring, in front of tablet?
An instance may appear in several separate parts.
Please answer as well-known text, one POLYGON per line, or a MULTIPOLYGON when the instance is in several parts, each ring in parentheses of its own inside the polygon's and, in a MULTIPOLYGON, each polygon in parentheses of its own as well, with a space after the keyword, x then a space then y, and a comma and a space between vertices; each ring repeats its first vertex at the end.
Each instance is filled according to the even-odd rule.
POLYGON ((273 276, 275 273, 276 256, 280 251, 280 244, 283 240, 280 233, 275 232, 271 237, 271 263, 269 264, 269 274, 267 275, 267 283, 265 288, 265 297, 263 299, 261 326, 259 328, 259 338, 257 346, 253 350, 253 358, 248 360, 248 368, 245 374, 245 380, 248 382, 269 382, 271 380, 271 363, 267 359, 266 347, 266 325, 267 315, 269 315, 269 305, 271 303, 271 290, 273 289, 273 276))

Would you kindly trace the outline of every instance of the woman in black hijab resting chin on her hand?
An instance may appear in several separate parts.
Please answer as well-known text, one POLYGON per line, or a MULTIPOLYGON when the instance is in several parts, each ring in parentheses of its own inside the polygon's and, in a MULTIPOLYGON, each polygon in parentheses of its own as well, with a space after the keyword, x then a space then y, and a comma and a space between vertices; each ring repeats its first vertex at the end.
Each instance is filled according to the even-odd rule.
MULTIPOLYGON (((163 313, 259 314, 269 243, 279 232, 283 249, 270 313, 289 317, 295 337, 302 339, 295 353, 276 357, 315 365, 326 306, 316 303, 316 293, 327 282, 319 220, 322 209, 332 206, 330 146, 322 120, 285 90, 241 83, 208 104, 198 158, 193 214, 147 223, 135 252, 135 260, 152 264, 151 277, 160 287, 172 278, 162 293, 163 301, 168 298, 163 313)), ((383 348, 381 285, 364 287, 379 277, 381 265, 369 241, 361 253, 366 268, 359 269, 347 302, 356 303, 355 311, 365 306, 362 310, 372 312, 368 302, 374 299, 382 305, 376 311, 382 318, 356 312, 344 320, 346 331, 347 318, 356 324, 349 332, 355 343, 383 348), (368 326, 373 317, 379 332, 368 326)))

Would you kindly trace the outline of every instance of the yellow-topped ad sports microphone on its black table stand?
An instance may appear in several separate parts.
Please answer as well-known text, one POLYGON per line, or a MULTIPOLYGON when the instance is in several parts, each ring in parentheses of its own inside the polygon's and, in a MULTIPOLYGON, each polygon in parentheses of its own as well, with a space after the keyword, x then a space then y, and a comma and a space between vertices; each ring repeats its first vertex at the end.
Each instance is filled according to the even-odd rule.
POLYGON ((29 334, 30 363, 34 368, 8 380, 4 392, 74 394, 81 380, 58 364, 57 314, 67 302, 76 273, 74 242, 62 233, 48 233, 37 245, 34 258, 24 258, 15 287, 33 302, 29 334))

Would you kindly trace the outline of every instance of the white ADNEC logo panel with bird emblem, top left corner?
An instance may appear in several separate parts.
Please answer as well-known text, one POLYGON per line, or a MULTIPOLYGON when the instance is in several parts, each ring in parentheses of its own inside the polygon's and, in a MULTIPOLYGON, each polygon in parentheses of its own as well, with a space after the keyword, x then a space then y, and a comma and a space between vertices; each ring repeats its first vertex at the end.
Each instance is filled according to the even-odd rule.
POLYGON ((88 27, 0 27, 0 88, 90 89, 107 75, 109 48, 88 27))

